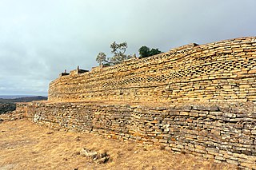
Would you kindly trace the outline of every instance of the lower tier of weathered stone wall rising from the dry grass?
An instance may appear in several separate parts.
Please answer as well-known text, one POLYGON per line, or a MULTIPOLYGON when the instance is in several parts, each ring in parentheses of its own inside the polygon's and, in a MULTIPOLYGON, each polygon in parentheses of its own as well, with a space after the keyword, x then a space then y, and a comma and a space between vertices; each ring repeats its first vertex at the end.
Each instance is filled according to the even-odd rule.
POLYGON ((49 128, 161 144, 166 150, 226 161, 241 168, 256 168, 254 103, 186 103, 160 107, 32 102, 25 107, 27 117, 49 128))

